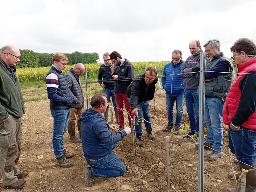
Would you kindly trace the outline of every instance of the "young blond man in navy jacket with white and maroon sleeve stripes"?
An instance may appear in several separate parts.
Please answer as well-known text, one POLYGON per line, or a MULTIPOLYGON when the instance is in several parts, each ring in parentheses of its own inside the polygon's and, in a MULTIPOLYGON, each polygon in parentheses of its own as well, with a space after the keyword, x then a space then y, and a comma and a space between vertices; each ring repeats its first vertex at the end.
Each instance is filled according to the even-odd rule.
POLYGON ((70 108, 73 97, 62 71, 66 68, 68 58, 62 53, 55 53, 52 56, 52 67, 46 74, 45 82, 47 86, 48 99, 50 99, 51 115, 53 117, 53 153, 60 167, 71 167, 73 162, 67 158, 73 157, 74 153, 69 153, 64 148, 64 133, 67 128, 70 108))

